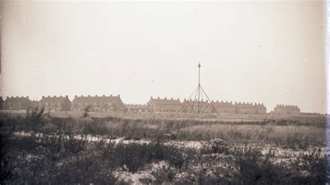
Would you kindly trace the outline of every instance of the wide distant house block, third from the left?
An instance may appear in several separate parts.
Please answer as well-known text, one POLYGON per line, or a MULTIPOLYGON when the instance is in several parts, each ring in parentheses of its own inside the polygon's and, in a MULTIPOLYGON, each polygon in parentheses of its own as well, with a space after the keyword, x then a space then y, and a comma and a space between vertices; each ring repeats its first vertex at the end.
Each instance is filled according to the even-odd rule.
POLYGON ((72 100, 71 111, 84 111, 84 108, 87 106, 90 107, 90 111, 97 112, 123 112, 126 109, 120 99, 120 95, 102 95, 102 97, 98 97, 97 95, 95 97, 91 97, 91 95, 87 97, 81 95, 81 97, 78 97, 76 95, 72 100))

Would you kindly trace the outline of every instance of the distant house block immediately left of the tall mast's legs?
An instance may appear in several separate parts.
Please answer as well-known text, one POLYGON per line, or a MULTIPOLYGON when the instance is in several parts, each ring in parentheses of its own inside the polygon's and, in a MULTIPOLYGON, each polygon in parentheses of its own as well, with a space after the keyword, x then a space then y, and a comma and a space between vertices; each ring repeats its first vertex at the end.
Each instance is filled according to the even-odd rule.
POLYGON ((148 108, 153 113, 178 113, 181 109, 181 102, 180 99, 157 99, 150 97, 149 102, 147 103, 148 108))

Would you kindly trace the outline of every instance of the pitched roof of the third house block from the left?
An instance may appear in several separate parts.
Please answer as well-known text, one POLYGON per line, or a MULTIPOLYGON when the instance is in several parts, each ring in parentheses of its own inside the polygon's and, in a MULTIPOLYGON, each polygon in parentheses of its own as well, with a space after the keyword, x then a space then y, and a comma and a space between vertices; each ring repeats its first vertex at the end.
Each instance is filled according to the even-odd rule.
POLYGON ((119 102, 122 103, 120 97, 119 96, 102 96, 102 97, 74 97, 74 99, 72 100, 72 103, 77 104, 77 103, 113 103, 113 102, 119 102))

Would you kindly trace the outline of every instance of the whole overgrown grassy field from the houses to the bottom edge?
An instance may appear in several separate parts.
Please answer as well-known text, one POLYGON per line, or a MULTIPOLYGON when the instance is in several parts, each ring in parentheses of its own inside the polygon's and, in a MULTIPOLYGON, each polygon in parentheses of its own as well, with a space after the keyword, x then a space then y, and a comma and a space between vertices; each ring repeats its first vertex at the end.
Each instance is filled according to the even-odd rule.
POLYGON ((36 111, 2 113, 0 123, 1 184, 325 182, 327 122, 320 115, 226 121, 36 111))

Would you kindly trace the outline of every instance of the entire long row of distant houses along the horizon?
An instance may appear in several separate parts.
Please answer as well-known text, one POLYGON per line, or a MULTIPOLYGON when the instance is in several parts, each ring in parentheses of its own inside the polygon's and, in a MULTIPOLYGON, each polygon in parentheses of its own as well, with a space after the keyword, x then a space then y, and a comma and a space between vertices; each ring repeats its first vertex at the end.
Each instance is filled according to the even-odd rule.
MULTIPOLYGON (((0 97, 0 108, 3 110, 27 110, 28 108, 45 108, 46 111, 90 111, 97 112, 129 112, 129 113, 246 113, 265 114, 267 108, 260 103, 224 102, 224 101, 194 101, 193 99, 168 99, 150 97, 147 104, 123 104, 120 95, 117 96, 74 96, 72 102, 68 96, 42 96, 40 101, 31 101, 29 97, 0 97)), ((299 114, 298 106, 277 105, 272 113, 299 114)))

